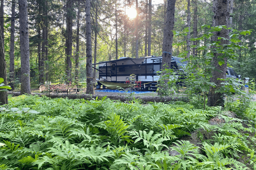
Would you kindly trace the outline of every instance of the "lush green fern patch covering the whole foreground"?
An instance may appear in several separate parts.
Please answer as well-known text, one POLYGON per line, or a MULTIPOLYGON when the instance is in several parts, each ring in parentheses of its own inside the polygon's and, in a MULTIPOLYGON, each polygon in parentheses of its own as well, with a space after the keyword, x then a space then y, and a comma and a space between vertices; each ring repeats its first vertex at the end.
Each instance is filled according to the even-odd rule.
POLYGON ((246 163, 255 169, 255 129, 228 117, 208 124, 222 113, 136 100, 10 97, 0 108, 0 169, 247 169, 241 153, 250 153, 246 163), (201 148, 179 139, 198 129, 214 131, 206 140, 198 133, 201 148))

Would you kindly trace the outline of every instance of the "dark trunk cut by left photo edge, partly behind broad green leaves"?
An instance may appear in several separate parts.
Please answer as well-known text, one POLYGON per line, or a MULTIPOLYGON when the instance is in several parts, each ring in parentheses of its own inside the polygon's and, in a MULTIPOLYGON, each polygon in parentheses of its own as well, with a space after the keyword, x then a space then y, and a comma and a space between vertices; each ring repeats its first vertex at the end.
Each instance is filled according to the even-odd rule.
MULTIPOLYGON (((2 38, 2 27, 0 25, 0 78, 3 78, 3 83, 7 85, 6 62, 4 56, 4 46, 2 38)), ((8 104, 7 91, 0 91, 0 105, 8 104)))

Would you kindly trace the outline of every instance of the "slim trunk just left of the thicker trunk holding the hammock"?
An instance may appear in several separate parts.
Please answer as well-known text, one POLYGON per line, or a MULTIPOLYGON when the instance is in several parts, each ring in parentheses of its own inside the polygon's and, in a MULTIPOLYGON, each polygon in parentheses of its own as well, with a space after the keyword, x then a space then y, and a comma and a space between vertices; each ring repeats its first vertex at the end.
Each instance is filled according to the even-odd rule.
POLYGON ((76 54, 75 54, 75 83, 78 83, 79 71, 79 39, 80 39, 80 1, 77 1, 77 20, 76 20, 76 54))

